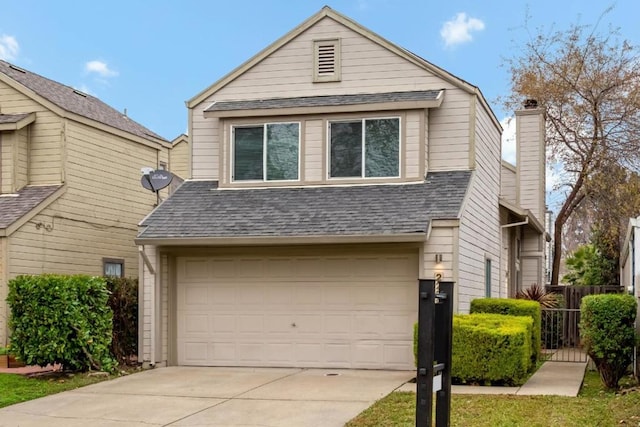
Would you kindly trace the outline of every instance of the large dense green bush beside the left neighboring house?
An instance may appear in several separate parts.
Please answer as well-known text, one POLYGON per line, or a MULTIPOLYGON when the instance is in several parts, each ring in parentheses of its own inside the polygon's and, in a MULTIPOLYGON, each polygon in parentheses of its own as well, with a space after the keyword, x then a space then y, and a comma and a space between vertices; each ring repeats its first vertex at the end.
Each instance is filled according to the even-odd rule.
POLYGON ((12 352, 29 365, 113 369, 108 298, 100 277, 44 274, 10 280, 12 352))

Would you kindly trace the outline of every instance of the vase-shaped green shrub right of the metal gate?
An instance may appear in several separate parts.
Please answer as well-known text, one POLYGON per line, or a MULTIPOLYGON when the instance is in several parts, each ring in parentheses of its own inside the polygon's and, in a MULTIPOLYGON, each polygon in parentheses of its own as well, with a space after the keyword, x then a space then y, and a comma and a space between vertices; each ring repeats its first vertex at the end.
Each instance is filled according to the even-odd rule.
POLYGON ((633 360, 636 301, 631 295, 582 298, 580 338, 607 388, 617 388, 633 360))

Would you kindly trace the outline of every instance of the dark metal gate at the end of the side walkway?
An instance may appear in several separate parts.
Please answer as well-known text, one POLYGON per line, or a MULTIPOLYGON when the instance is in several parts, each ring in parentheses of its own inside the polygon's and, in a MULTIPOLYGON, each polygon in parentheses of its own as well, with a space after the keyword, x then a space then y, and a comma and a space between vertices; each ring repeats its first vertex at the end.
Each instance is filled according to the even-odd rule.
POLYGON ((587 354, 580 344, 580 309, 542 309, 542 352, 554 362, 586 362, 587 354))

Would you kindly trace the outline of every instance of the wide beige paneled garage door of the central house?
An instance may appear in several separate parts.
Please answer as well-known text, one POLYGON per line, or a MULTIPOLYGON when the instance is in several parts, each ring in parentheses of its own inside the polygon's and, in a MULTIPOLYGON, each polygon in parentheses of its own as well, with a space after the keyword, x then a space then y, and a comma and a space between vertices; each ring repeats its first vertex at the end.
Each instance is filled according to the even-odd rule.
POLYGON ((177 260, 180 365, 413 369, 414 252, 177 260))

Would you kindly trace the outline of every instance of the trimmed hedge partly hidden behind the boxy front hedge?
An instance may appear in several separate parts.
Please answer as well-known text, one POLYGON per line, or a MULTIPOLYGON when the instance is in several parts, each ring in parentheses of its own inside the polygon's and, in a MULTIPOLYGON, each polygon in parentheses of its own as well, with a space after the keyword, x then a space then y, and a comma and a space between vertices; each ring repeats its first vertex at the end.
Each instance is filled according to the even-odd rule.
POLYGON ((540 303, 512 298, 477 298, 471 301, 471 313, 507 314, 510 316, 529 316, 533 319, 531 331, 531 366, 540 357, 542 346, 542 310, 540 303))

